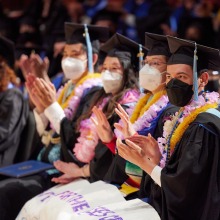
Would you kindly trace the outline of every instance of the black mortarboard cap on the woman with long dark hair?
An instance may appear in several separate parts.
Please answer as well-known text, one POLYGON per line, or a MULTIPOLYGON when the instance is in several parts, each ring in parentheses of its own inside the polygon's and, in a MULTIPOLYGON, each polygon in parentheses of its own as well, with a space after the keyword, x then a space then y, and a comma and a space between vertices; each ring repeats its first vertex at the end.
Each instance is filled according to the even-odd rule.
MULTIPOLYGON (((114 34, 105 44, 100 47, 100 52, 104 55, 117 55, 121 59, 131 60, 135 69, 139 66, 139 44, 121 35, 114 34)), ((142 47, 142 53, 147 54, 147 49, 142 47)), ((103 56, 103 55, 102 55, 103 56)))

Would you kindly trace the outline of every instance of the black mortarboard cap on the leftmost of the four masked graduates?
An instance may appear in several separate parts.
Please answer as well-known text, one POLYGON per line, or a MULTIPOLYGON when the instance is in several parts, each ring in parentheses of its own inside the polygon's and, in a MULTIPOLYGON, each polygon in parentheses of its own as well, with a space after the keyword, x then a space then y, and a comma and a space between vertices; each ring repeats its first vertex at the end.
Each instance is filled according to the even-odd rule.
MULTIPOLYGON (((109 28, 96 25, 87 25, 93 52, 98 53, 99 42, 109 38, 109 28)), ((65 38, 67 44, 83 43, 86 45, 85 26, 72 22, 65 22, 65 38)))

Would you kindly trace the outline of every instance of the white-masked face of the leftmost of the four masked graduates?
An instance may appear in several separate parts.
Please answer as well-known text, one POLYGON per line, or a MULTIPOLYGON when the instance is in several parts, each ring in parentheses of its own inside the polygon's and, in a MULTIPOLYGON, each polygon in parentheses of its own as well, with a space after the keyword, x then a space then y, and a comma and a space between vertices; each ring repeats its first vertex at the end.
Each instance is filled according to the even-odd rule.
POLYGON ((62 69, 67 79, 79 80, 86 74, 87 53, 83 44, 66 44, 63 51, 62 69))

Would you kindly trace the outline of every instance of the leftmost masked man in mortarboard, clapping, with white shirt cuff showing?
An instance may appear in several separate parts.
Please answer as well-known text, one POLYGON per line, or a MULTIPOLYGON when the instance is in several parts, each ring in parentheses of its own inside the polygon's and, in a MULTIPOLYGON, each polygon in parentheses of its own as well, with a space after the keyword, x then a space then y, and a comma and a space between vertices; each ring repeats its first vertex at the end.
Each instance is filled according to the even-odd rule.
MULTIPOLYGON (((98 59, 99 43, 108 38, 108 28, 65 23, 65 37, 62 68, 69 81, 58 91, 58 98, 54 86, 42 78, 30 74, 26 82, 30 98, 36 106, 34 115, 37 131, 44 144, 38 159, 49 163, 61 158, 60 131, 66 135, 65 140, 68 140, 68 135, 72 136, 71 120, 83 95, 93 87, 101 86, 101 75, 93 73, 93 68, 98 59)), ((65 153, 65 159, 72 159, 71 153, 65 153)), ((27 200, 51 187, 50 180, 57 173, 57 170, 52 169, 43 175, 40 173, 24 179, 1 181, 1 219, 8 219, 8 216, 15 219, 27 200), (20 197, 24 194, 25 197, 20 197), (5 198, 7 203, 3 202, 5 198)))

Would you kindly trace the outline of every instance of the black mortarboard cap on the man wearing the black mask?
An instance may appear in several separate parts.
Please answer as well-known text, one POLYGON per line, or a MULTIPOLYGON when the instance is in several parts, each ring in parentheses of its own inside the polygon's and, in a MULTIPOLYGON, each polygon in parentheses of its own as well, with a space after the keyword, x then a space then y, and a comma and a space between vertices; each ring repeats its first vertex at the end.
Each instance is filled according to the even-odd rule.
MULTIPOLYGON (((167 36, 170 52, 172 53, 168 64, 187 64, 193 67, 195 42, 176 37, 167 36)), ((211 47, 196 44, 197 71, 220 69, 220 51, 211 47)))

